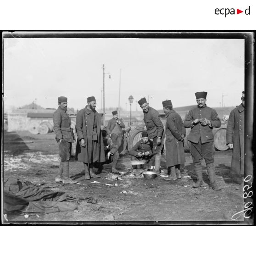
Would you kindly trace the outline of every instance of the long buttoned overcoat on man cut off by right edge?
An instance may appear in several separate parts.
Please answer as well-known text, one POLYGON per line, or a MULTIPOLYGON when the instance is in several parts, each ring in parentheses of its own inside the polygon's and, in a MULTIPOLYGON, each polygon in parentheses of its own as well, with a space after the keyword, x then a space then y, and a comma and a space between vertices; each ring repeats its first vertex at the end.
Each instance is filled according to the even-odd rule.
POLYGON ((245 165, 245 108, 241 104, 230 112, 227 126, 227 145, 234 146, 231 170, 232 173, 244 174, 245 165))

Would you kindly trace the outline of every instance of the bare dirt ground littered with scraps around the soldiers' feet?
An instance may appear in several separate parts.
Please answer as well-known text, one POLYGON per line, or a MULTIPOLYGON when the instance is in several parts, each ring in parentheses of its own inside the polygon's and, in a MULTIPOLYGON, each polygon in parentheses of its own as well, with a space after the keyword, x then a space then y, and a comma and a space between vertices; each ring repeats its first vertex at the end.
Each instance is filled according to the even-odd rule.
MULTIPOLYGON (((222 221, 231 221, 234 213, 243 210, 242 189, 238 184, 232 183, 229 177, 232 154, 229 150, 216 151, 215 154, 217 182, 223 188, 220 191, 209 188, 205 169, 205 186, 199 189, 192 188, 196 177, 189 153, 185 153, 185 168, 191 178, 166 181, 163 177, 145 179, 142 176, 132 176, 128 172, 130 156, 126 154, 117 165, 117 169, 128 172, 126 175, 119 175, 118 178, 121 179, 106 179, 110 177, 111 170, 111 164, 108 164, 104 165, 101 178, 85 180, 83 164, 70 161, 70 176, 76 178, 78 184, 63 185, 56 184, 54 180, 59 166, 58 147, 54 137, 54 134, 5 133, 3 178, 12 177, 22 181, 29 180, 34 184, 44 184, 52 187, 53 191, 65 191, 76 198, 94 197, 97 203, 89 204, 82 201, 75 211, 29 215, 26 219, 23 213, 7 214, 7 223, 204 221, 220 224, 222 221), (99 183, 92 183, 94 181, 99 183)), ((166 175, 164 161, 161 167, 161 174, 166 175)), ((237 221, 243 221, 243 218, 240 217, 237 221)))

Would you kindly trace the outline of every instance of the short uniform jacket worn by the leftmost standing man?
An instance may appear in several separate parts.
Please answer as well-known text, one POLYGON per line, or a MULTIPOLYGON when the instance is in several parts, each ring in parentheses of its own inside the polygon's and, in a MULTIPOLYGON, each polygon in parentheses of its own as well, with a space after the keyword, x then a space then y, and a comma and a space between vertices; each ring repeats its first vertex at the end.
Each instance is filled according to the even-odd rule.
POLYGON ((75 136, 71 128, 71 119, 59 106, 57 110, 53 113, 53 130, 56 134, 57 142, 60 139, 64 139, 67 142, 74 142, 75 136))

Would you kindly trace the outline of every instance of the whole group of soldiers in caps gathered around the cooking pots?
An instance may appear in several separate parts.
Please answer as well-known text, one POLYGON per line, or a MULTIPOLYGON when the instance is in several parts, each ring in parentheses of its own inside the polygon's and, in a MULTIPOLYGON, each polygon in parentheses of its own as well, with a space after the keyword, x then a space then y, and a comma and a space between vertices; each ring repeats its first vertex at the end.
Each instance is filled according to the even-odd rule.
MULTIPOLYGON (((206 95, 207 92, 195 93, 197 106, 189 111, 184 122, 180 115, 173 110, 171 100, 162 101, 163 111, 166 114, 165 133, 159 112, 149 106, 145 98, 141 98, 138 103, 143 110, 146 131, 142 132, 142 138, 129 152, 132 160, 145 159, 147 161, 146 169, 148 166, 154 165, 154 171, 159 176, 161 156, 163 156, 167 165, 168 177, 165 178, 166 180, 189 177, 184 169, 184 138, 186 136, 185 128, 191 128, 188 141, 197 176, 197 182, 193 187, 199 188, 204 184, 202 175, 204 159, 210 187, 220 190, 215 176, 215 148, 212 129, 219 128, 221 121, 217 112, 206 106, 206 95)), ((227 145, 233 149, 231 165, 233 176, 244 173, 244 91, 241 100, 242 104, 231 111, 227 126, 227 145)), ((67 97, 59 97, 58 105, 58 109, 53 114, 53 122, 61 162, 55 181, 63 182, 63 184, 76 184, 78 181, 69 177, 69 160, 75 136, 71 128, 71 119, 67 114, 67 97)), ((102 171, 102 164, 110 158, 112 158, 111 172, 119 173, 117 170, 118 149, 122 144, 122 129, 125 128, 125 125, 118 118, 117 111, 113 111, 113 118, 108 122, 106 128, 106 134, 111 138, 111 146, 107 145, 105 143, 106 134, 103 137, 103 130, 100 126, 101 114, 95 110, 95 107, 95 97, 88 97, 87 105, 78 111, 76 118, 76 160, 83 162, 85 179, 100 178, 98 173, 102 171), (97 173, 94 172, 94 169, 98 170, 97 173)))

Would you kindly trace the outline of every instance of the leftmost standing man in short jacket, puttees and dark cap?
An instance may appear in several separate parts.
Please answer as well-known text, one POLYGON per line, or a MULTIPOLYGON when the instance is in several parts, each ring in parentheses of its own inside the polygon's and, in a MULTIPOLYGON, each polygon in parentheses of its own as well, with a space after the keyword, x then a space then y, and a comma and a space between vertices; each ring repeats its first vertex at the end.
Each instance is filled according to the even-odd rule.
POLYGON ((72 142, 75 139, 71 128, 71 120, 67 114, 67 97, 58 97, 59 107, 53 113, 53 129, 56 134, 55 139, 59 145, 61 157, 59 174, 55 181, 63 184, 76 184, 78 181, 69 178, 69 160, 71 156, 72 142))

